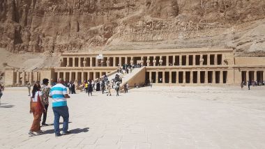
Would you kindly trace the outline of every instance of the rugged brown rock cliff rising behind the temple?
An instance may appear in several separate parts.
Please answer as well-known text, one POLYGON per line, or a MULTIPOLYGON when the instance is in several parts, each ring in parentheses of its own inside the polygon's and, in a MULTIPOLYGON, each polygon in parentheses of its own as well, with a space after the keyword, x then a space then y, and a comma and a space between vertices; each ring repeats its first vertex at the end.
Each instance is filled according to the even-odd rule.
POLYGON ((1 0, 10 52, 233 47, 264 56, 264 0, 1 0))

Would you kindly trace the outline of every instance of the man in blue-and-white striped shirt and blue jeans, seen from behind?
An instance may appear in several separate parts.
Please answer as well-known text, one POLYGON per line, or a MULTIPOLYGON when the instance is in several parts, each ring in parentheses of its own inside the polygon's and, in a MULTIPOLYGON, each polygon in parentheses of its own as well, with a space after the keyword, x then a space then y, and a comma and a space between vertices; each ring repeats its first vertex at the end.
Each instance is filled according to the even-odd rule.
POLYGON ((54 111, 54 133, 55 136, 70 134, 68 131, 69 111, 66 98, 70 98, 67 94, 66 86, 63 86, 63 79, 58 79, 58 82, 50 90, 52 97, 52 110, 54 111), (60 133, 59 120, 63 117, 63 132, 60 133))

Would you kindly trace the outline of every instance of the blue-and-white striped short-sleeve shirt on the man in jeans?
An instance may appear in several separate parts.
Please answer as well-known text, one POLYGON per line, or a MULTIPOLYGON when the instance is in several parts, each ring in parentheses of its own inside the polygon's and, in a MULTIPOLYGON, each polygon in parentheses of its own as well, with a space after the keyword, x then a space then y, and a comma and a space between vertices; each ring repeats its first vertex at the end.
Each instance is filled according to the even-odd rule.
POLYGON ((50 96, 52 96, 52 107, 63 107, 67 106, 67 101, 64 95, 67 94, 66 86, 63 84, 56 84, 52 86, 50 90, 50 96))

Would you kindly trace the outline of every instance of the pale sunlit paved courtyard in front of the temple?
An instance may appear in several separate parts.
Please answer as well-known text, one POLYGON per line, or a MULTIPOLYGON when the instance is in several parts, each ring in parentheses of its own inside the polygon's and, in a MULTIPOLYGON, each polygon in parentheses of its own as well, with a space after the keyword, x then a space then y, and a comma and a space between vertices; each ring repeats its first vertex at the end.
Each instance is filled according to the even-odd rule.
POLYGON ((119 97, 77 93, 68 100, 72 134, 56 138, 52 107, 47 113, 50 126, 41 128, 44 134, 29 137, 33 116, 27 88, 6 88, 0 107, 0 148, 261 149, 264 90, 153 86, 119 97))

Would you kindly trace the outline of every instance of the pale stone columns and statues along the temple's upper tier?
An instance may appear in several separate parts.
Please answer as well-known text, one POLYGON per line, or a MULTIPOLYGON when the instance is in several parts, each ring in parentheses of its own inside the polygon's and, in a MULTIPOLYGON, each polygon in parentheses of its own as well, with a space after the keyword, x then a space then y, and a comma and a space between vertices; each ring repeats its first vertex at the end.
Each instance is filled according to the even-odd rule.
MULTIPOLYGON (((211 61, 210 56, 211 55, 214 55, 213 65, 218 65, 218 54, 172 55, 172 65, 174 65, 174 63, 176 63, 176 56, 179 56, 179 65, 182 65, 182 61, 183 61, 182 56, 185 56, 185 65, 189 64, 189 60, 190 60, 189 56, 192 56, 192 65, 195 65, 195 63, 196 63, 196 56, 199 56, 199 65, 203 65, 203 62, 204 62, 203 56, 204 55, 207 55, 206 65, 210 65, 210 61, 211 61)), ((116 65, 116 57, 117 56, 112 57, 112 59, 113 59, 112 66, 117 66, 116 65)), ((153 63, 154 66, 156 65, 156 63, 159 63, 160 65, 162 65, 162 63, 164 61, 162 59, 163 56, 159 56, 160 57, 159 60, 156 59, 157 56, 130 56, 130 64, 131 65, 136 64, 133 61, 133 59, 135 57, 141 57, 141 64, 144 65, 144 63, 146 63, 147 64, 146 66, 150 66, 151 63, 153 63), (146 61, 144 61, 144 57, 146 57, 146 61), (153 57, 153 61, 151 61, 151 57, 153 57)), ((165 59, 166 65, 169 66, 169 56, 164 56, 164 57, 166 57, 166 59, 165 59)), ((81 67, 82 63, 83 63, 83 66, 86 67, 86 57, 72 57, 72 58, 73 58, 72 66, 70 66, 70 57, 66 58, 66 67, 75 67, 75 58, 78 58, 77 67, 81 67), (84 61, 81 61, 81 58, 84 58, 84 61)), ((92 57, 92 56, 89 57, 90 65, 87 65, 87 66, 93 67, 93 58, 96 58, 96 57, 92 57)), ((107 57, 107 61, 105 61, 104 59, 100 60, 100 63, 107 63, 107 67, 109 67, 109 63, 110 63, 109 58, 110 57, 107 57)), ((128 63, 128 56, 125 56, 125 57, 119 56, 118 58, 119 58, 119 65, 124 64, 124 63, 121 63, 121 58, 125 58, 125 63, 128 63)), ((96 59, 95 66, 98 67, 98 59, 96 59)))

